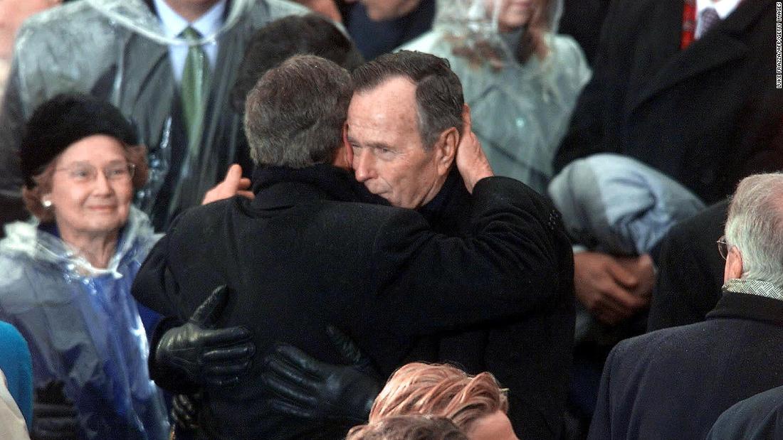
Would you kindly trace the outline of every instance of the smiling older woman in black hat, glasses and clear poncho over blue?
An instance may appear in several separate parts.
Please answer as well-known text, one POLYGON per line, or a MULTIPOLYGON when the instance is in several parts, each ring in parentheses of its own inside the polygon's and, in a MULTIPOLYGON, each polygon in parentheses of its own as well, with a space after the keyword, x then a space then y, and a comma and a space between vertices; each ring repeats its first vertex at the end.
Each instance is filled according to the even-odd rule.
POLYGON ((168 436, 163 399, 147 371, 142 308, 129 294, 157 239, 131 204, 146 181, 136 143, 117 109, 85 95, 52 98, 27 123, 23 197, 36 218, 9 225, 0 241, 0 320, 30 345, 39 390, 34 418, 51 423, 34 420, 34 437, 68 431, 58 417, 73 424, 47 401, 57 388, 74 403, 70 430, 79 438, 168 436))

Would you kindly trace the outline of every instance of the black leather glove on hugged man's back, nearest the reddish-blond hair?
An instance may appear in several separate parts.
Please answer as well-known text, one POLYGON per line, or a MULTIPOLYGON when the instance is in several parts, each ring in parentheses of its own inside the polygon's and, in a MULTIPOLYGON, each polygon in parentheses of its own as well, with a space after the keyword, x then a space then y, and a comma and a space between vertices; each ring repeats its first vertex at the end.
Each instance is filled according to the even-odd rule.
POLYGON ((280 413, 312 423, 366 423, 373 400, 381 392, 372 362, 334 327, 332 342, 351 365, 332 365, 308 356, 291 345, 280 345, 267 356, 262 383, 269 404, 280 413))

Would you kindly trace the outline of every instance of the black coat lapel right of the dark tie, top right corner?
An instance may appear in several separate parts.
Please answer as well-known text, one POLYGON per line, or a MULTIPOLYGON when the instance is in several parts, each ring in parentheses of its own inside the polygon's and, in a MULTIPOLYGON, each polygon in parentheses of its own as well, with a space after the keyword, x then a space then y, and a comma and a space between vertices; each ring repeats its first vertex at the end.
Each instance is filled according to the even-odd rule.
MULTIPOLYGON (((652 80, 633 100, 630 109, 637 109, 648 99, 680 82, 696 77, 708 70, 742 59, 749 48, 740 39, 746 27, 759 20, 771 0, 747 0, 738 5, 734 13, 718 23, 702 38, 694 41, 684 51, 677 52, 667 61, 652 80)), ((681 13, 681 11, 680 11, 681 13)), ((682 23, 680 17, 680 24, 682 23)))

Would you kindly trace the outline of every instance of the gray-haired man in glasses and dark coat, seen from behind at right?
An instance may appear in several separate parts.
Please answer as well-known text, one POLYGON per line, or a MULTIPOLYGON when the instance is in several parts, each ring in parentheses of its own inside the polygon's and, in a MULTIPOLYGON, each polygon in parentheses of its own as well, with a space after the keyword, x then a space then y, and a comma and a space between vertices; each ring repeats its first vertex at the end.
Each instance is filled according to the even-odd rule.
POLYGON ((723 410, 783 385, 783 173, 740 182, 718 246, 715 309, 612 349, 589 438, 705 438, 723 410))

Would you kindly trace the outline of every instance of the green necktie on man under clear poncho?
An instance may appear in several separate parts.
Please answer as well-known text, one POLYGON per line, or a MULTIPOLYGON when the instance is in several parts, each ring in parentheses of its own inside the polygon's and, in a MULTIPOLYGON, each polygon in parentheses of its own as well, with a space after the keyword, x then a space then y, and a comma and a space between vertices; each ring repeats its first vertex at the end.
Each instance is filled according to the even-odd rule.
POLYGON ((185 116, 185 127, 189 139, 200 132, 204 120, 204 107, 209 95, 210 66, 207 54, 200 45, 195 45, 201 39, 201 34, 193 27, 186 27, 180 37, 191 45, 182 69, 182 114, 185 116))

